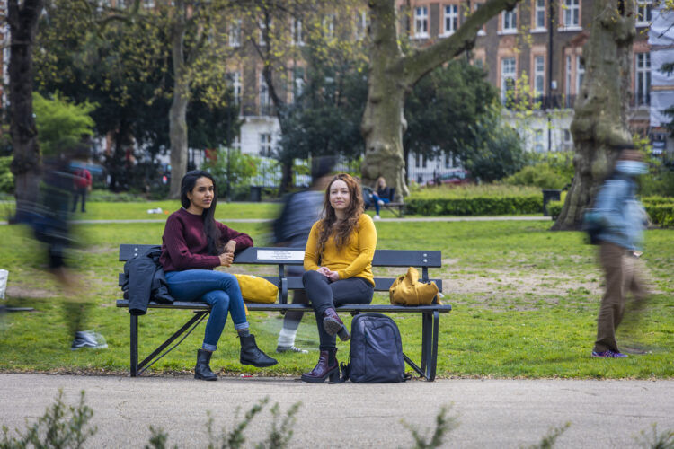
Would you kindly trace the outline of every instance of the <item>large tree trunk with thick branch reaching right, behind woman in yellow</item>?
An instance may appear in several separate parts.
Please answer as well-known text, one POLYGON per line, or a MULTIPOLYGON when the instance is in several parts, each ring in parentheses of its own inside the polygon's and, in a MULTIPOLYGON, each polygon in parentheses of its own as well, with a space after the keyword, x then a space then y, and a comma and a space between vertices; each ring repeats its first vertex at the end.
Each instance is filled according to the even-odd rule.
POLYGON ((434 68, 473 48, 483 24, 519 0, 489 0, 470 14, 451 37, 404 56, 398 44, 395 0, 369 0, 370 47, 368 103, 360 131, 365 139, 361 166, 363 184, 374 186, 379 176, 395 187, 395 201, 409 195, 405 183, 404 100, 417 82, 434 68))

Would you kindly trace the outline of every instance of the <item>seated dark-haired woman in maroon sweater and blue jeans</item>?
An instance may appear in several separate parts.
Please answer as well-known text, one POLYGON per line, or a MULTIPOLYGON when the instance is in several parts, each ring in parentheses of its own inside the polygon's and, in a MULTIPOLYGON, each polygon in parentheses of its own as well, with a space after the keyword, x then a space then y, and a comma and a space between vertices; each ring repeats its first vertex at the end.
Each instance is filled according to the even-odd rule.
POLYGON ((185 174, 181 183, 182 208, 166 220, 160 259, 169 293, 175 299, 210 304, 204 342, 197 351, 194 368, 194 378, 206 381, 217 380, 209 363, 225 328, 227 313, 232 315, 241 341, 241 363, 257 367, 277 364, 257 347, 255 337, 248 330, 244 298, 236 277, 213 270, 219 266, 229 267, 235 251, 253 246, 250 236, 214 219, 216 202, 216 185, 208 172, 195 170, 185 174))

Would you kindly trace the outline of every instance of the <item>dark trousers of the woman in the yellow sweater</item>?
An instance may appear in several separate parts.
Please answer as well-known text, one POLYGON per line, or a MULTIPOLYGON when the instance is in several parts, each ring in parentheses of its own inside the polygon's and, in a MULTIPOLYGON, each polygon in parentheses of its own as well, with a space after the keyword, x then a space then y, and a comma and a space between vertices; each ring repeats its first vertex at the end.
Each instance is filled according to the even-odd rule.
POLYGON ((302 275, 306 295, 316 316, 321 350, 335 348, 337 337, 328 334, 323 327, 323 313, 343 304, 370 304, 375 287, 362 277, 350 277, 331 282, 318 271, 306 271, 302 275))

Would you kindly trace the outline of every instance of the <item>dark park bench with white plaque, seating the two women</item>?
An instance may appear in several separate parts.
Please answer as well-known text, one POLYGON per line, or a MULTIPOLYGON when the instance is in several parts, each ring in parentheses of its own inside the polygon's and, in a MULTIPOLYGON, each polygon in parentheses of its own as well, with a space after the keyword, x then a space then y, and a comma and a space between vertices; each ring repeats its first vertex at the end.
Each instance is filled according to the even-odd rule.
MULTIPOLYGON (((146 252, 148 249, 156 247, 155 245, 141 244, 120 244, 120 261, 129 260, 138 254, 146 252)), ((302 248, 247 248, 236 254, 234 262, 236 264, 251 265, 276 265, 278 267, 278 276, 265 276, 267 280, 279 287, 279 302, 275 304, 246 303, 248 310, 253 312, 279 312, 286 313, 291 310, 313 312, 310 304, 288 304, 288 292, 303 289, 302 277, 286 276, 286 267, 288 265, 302 265, 304 260, 304 249, 302 248)), ((429 279, 430 268, 439 268, 441 266, 440 251, 408 251, 408 250, 377 250, 372 260, 373 267, 407 268, 416 267, 421 269, 421 280, 427 282, 433 280, 442 291, 441 279, 429 279)), ((120 273, 120 286, 123 274, 120 273)), ((376 277, 375 291, 385 292, 394 282, 395 277, 376 277)), ((129 308, 129 301, 120 299, 117 301, 117 307, 129 308)), ((210 306, 200 302, 180 302, 173 304, 161 304, 150 302, 149 309, 184 309, 194 313, 190 320, 176 330, 172 336, 164 341, 158 348, 142 361, 138 362, 138 315, 129 314, 130 317, 130 357, 131 377, 142 374, 150 365, 153 365, 161 357, 164 357, 169 351, 177 347, 187 335, 194 330, 210 312, 210 306), (184 337, 178 343, 168 348, 173 341, 184 337), (168 349, 166 349, 168 348, 168 349), (162 351, 165 352, 163 353, 162 351)), ((351 315, 357 313, 421 313, 421 364, 412 362, 410 357, 404 355, 405 362, 412 369, 428 381, 433 381, 436 374, 438 361, 438 334, 439 334, 439 313, 449 313, 452 306, 449 304, 437 304, 437 298, 430 305, 393 305, 393 304, 346 304, 337 307, 337 312, 347 312, 351 315)))

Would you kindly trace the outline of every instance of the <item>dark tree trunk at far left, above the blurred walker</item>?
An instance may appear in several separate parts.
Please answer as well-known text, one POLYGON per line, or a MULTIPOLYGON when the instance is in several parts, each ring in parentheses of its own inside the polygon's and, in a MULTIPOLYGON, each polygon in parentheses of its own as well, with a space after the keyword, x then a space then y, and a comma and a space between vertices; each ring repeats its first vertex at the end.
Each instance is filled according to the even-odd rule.
POLYGON ((14 196, 17 207, 38 199, 41 157, 38 130, 32 110, 32 47, 44 0, 17 0, 7 4, 7 22, 12 34, 9 57, 9 101, 12 123, 14 196))

